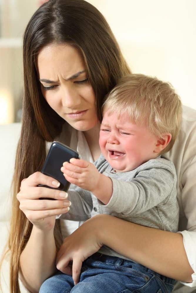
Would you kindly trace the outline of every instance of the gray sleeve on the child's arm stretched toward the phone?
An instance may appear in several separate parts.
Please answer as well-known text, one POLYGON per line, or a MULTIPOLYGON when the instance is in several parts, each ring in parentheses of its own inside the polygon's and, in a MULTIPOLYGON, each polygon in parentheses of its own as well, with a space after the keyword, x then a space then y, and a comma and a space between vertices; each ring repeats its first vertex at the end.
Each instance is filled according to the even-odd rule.
POLYGON ((105 207, 128 217, 166 202, 176 184, 175 173, 163 168, 141 171, 130 182, 111 180, 113 194, 105 207))

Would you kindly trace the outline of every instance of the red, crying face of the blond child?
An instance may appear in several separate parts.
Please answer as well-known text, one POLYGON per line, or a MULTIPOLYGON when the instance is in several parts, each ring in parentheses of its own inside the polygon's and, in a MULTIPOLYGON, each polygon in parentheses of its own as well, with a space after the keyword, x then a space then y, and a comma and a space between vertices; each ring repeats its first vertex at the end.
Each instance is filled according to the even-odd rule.
POLYGON ((116 113, 104 112, 100 127, 99 145, 110 166, 117 172, 131 171, 150 159, 158 137, 145 125, 133 124, 128 114, 118 117, 116 113))

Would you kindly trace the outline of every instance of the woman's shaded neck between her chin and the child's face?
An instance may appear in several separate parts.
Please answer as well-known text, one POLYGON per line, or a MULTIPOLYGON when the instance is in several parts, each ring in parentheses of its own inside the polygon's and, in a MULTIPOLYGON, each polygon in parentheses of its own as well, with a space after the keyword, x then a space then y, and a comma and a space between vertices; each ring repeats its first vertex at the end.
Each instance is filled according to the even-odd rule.
POLYGON ((87 131, 83 131, 83 134, 88 143, 88 147, 91 151, 93 160, 96 161, 101 154, 99 147, 99 131, 100 131, 100 122, 98 122, 93 128, 87 131))

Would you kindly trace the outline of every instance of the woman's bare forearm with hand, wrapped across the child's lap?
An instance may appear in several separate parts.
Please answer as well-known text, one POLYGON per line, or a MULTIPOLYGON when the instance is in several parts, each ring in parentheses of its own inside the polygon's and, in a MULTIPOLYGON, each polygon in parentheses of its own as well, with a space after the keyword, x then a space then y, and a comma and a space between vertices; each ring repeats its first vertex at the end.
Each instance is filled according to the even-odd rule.
POLYGON ((69 272, 77 283, 82 262, 102 245, 167 277, 192 282, 181 234, 141 226, 110 215, 97 215, 68 236, 56 259, 58 270, 69 272), (78 241, 80 239, 80 241, 78 241))

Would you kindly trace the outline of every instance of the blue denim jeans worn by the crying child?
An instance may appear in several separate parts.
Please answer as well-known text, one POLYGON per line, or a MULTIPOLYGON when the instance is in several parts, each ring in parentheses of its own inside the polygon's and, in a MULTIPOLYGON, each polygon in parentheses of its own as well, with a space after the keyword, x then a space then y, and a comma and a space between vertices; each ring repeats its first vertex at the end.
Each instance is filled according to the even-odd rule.
POLYGON ((76 286, 70 275, 58 271, 39 293, 168 293, 174 282, 138 263, 95 253, 83 262, 76 286))

